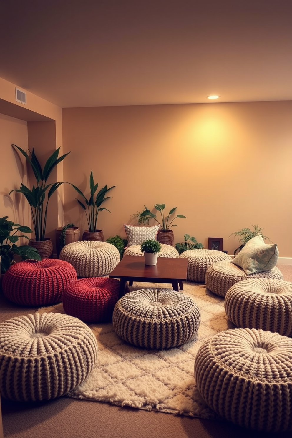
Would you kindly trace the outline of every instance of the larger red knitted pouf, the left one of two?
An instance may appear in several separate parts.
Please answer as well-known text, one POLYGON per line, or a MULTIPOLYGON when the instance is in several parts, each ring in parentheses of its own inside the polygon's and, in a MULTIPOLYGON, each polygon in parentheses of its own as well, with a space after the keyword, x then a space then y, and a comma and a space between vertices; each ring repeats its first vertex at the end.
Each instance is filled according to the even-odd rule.
POLYGON ((76 271, 67 261, 54 258, 24 260, 6 271, 2 289, 13 303, 47 306, 62 301, 64 288, 76 279, 76 271))

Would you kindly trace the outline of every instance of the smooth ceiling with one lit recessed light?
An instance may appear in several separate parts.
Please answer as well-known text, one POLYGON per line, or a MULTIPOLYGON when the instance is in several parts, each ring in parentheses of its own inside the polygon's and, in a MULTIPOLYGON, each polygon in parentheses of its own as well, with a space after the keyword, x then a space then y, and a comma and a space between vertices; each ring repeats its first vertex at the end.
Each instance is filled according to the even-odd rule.
POLYGON ((292 100, 291 22, 291 0, 2 1, 0 77, 60 107, 292 100))

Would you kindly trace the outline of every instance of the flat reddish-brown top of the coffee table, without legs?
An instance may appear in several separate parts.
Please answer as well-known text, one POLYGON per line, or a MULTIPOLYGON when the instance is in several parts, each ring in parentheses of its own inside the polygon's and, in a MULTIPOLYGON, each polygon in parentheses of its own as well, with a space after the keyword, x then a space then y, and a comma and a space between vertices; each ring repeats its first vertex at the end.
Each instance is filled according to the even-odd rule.
POLYGON ((126 255, 109 277, 186 280, 187 258, 158 257, 157 265, 145 265, 144 257, 126 255))

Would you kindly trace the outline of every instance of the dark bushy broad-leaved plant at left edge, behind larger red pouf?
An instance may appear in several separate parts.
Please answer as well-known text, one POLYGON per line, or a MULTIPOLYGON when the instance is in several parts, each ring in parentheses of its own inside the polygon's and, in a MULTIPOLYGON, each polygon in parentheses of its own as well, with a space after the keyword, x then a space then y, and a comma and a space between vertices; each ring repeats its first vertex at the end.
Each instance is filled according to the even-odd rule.
POLYGON ((17 246, 20 237, 25 237, 29 240, 29 237, 25 235, 16 234, 18 231, 21 233, 32 233, 32 230, 28 226, 21 226, 19 223, 14 223, 7 220, 8 216, 0 218, 0 265, 1 274, 4 274, 7 269, 14 263, 14 256, 18 256, 21 260, 28 258, 34 260, 41 260, 41 257, 36 248, 22 245, 17 246))

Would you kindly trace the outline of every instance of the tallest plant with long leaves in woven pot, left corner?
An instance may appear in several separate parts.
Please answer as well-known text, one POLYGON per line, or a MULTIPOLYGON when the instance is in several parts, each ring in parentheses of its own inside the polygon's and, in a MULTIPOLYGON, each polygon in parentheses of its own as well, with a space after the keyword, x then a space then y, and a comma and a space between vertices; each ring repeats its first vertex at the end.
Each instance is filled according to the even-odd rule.
POLYGON ((18 149, 18 151, 25 156, 27 163, 31 166, 35 175, 36 184, 33 184, 32 189, 29 189, 21 183, 20 189, 11 190, 9 195, 13 191, 24 194, 31 208, 32 225, 35 232, 35 239, 31 239, 28 244, 37 247, 42 258, 47 258, 53 253, 52 240, 48 237, 45 237, 48 202, 52 194, 64 182, 47 184, 47 180, 52 170, 57 166, 57 164, 63 161, 63 159, 70 152, 58 157, 60 148, 56 149, 56 151, 54 151, 53 154, 47 159, 44 167, 42 168, 35 155, 34 148, 32 148, 32 152, 28 151, 31 156, 29 157, 29 155, 23 149, 14 144, 12 144, 12 146, 18 149))

